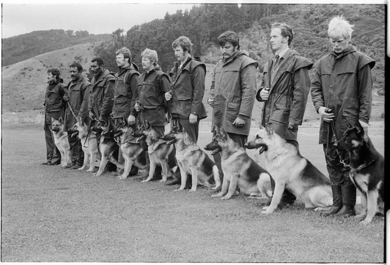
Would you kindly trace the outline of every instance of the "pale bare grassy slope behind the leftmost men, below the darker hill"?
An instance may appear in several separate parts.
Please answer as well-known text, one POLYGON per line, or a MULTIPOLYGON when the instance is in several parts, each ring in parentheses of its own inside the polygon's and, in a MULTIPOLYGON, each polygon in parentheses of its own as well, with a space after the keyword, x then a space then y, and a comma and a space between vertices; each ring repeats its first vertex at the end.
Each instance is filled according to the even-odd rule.
POLYGON ((67 84, 71 81, 69 65, 79 62, 88 71, 95 57, 93 44, 80 44, 69 48, 48 52, 31 59, 2 68, 3 110, 41 109, 47 87, 47 70, 60 69, 61 78, 67 84))

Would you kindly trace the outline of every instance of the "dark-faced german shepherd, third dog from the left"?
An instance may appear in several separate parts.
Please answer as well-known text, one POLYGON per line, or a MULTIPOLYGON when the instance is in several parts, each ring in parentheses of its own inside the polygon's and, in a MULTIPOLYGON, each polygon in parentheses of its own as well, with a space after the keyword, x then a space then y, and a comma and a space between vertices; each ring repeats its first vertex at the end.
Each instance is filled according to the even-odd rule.
MULTIPOLYGON (((115 141, 114 138, 115 128, 113 124, 104 118, 104 120, 100 122, 100 128, 101 133, 99 150, 101 154, 101 160, 99 170, 96 172, 96 176, 100 176, 104 172, 108 162, 111 162, 118 168, 124 167, 124 165, 118 163, 119 144, 115 141)), ((95 128, 94 130, 96 131, 98 128, 95 128)))

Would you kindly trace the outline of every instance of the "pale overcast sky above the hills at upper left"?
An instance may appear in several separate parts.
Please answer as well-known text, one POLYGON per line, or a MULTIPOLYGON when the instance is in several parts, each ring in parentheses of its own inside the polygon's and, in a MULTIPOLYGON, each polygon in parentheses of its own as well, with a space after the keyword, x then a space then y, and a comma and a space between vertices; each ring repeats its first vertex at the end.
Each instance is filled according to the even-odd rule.
POLYGON ((177 10, 188 11, 190 4, 3 4, 2 37, 34 30, 87 30, 91 34, 125 32, 177 10))

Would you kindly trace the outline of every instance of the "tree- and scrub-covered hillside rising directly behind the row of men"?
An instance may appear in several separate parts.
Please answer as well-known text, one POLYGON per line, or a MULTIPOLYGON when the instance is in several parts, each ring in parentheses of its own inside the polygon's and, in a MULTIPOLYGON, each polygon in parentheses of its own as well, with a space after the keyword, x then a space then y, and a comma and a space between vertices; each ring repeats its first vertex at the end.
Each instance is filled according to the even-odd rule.
POLYGON ((124 29, 111 33, 111 40, 95 46, 95 53, 105 65, 116 71, 115 51, 124 46, 140 64, 140 54, 145 48, 159 54, 164 71, 172 67, 175 57, 172 42, 186 35, 193 43, 192 55, 202 61, 215 63, 219 58, 217 37, 226 30, 240 34, 240 45, 249 56, 262 65, 272 56, 268 47, 270 26, 274 22, 290 24, 295 31, 292 49, 313 62, 330 51, 327 35, 329 20, 344 15, 355 24, 351 43, 376 60, 373 70, 374 88, 384 87, 384 5, 268 5, 204 4, 191 10, 178 10, 166 14, 164 19, 136 25, 126 34, 124 29))

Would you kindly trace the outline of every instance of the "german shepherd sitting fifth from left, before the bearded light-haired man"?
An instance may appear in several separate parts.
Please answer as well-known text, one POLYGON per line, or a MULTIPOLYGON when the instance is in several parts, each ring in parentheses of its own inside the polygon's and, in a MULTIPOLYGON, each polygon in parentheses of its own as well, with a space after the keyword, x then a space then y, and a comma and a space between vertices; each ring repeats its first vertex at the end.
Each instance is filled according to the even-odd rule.
POLYGON ((133 136, 145 138, 148 146, 147 153, 150 161, 149 176, 141 182, 147 182, 153 178, 156 166, 161 166, 162 168, 163 176, 160 182, 167 181, 168 174, 171 176, 175 174, 177 165, 174 145, 167 144, 166 140, 161 139, 147 120, 139 126, 139 130, 134 132, 133 136))

